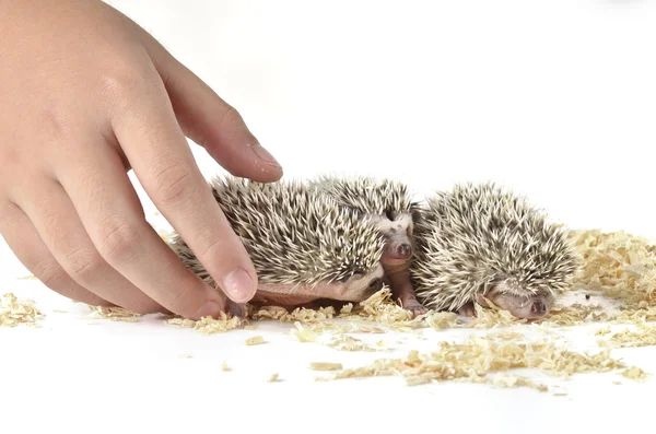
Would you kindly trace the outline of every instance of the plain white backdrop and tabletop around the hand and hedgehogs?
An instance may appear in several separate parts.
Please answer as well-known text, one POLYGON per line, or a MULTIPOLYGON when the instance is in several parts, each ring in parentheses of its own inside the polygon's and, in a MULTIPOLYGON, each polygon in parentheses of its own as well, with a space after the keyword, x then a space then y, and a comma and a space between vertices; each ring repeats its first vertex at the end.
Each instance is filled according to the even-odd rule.
MULTIPOLYGON (((653 2, 110 3, 233 104, 286 176, 391 175, 420 193, 493 178, 572 226, 656 235, 653 2)), ((219 171, 195 152, 203 173, 219 171)), ((0 329, 2 433, 552 433, 652 424, 654 382, 614 386, 617 374, 577 376, 565 384, 567 397, 407 388, 401 378, 315 383, 311 361, 359 366, 380 354, 301 344, 282 325, 210 337, 148 321, 90 327, 83 307, 15 280, 28 272, 4 245, 0 255, 2 292, 35 298, 47 315, 40 329, 0 329), (270 343, 243 344, 256 333, 270 343), (233 372, 221 372, 223 360, 233 372), (273 372, 284 382, 266 383, 273 372)), ((567 336, 585 347, 589 332, 567 336)), ((394 355, 467 335, 426 332, 427 341, 410 340, 394 355)), ((652 348, 613 354, 656 373, 652 348)))

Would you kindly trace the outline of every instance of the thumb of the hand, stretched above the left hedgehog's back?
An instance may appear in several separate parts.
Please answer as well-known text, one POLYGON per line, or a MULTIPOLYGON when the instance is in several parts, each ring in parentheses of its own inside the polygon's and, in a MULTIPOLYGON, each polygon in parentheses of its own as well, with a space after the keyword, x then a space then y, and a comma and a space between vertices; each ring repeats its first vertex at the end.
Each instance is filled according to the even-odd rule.
POLYGON ((282 167, 250 132, 242 115, 150 34, 140 33, 185 134, 235 176, 260 183, 279 180, 282 167))

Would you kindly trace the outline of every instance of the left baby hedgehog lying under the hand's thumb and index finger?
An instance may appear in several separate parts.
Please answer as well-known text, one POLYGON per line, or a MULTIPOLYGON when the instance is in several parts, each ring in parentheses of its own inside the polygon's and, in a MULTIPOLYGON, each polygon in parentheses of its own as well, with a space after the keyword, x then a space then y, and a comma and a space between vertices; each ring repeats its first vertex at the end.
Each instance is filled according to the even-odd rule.
MULTIPOLYGON (((258 273, 249 303, 288 308, 323 300, 358 303, 383 288, 385 241, 355 212, 294 181, 227 177, 210 186, 258 273)), ((189 270, 218 288, 179 235, 171 247, 189 270)), ((244 305, 229 303, 230 314, 245 316, 244 305)))

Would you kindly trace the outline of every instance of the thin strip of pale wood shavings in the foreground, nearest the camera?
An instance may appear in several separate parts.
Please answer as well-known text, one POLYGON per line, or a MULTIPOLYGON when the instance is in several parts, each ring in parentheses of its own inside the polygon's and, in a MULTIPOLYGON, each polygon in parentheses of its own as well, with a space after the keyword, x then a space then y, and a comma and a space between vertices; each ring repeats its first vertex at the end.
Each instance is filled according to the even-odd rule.
POLYGON ((511 382, 507 378, 500 382, 488 375, 513 368, 535 368, 563 377, 616 370, 624 370, 624 376, 634 376, 636 379, 643 379, 646 375, 640 368, 611 359, 608 350, 597 354, 581 354, 559 348, 553 342, 516 343, 488 336, 470 337, 462 344, 442 342, 437 351, 429 354, 420 354, 413 350, 406 359, 379 359, 368 366, 342 370, 331 378, 324 379, 399 375, 408 385, 459 380, 548 389, 547 386, 535 385, 526 378, 514 377, 511 382))

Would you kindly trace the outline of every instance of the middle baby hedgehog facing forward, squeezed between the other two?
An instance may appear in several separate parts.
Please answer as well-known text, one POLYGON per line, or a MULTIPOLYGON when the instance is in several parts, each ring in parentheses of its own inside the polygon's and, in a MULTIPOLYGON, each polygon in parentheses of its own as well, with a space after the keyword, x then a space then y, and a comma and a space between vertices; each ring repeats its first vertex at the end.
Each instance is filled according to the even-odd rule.
POLYGON ((414 295, 410 281, 410 263, 414 253, 413 230, 419 203, 412 201, 408 187, 400 181, 373 177, 347 178, 319 176, 311 185, 317 191, 335 199, 345 210, 353 210, 363 220, 372 222, 385 237, 382 263, 385 283, 401 306, 413 317, 427 309, 414 295))

